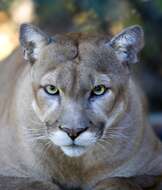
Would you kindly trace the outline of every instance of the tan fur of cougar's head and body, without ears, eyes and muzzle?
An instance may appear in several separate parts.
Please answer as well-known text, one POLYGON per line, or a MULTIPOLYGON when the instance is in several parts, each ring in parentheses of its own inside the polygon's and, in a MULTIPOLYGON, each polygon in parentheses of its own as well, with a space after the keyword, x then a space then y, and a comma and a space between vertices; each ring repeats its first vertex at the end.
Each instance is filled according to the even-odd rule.
POLYGON ((128 67, 119 61, 123 55, 118 58, 114 44, 104 45, 107 41, 106 35, 58 35, 49 44, 41 41, 32 59, 26 52, 31 64, 23 60, 20 49, 0 63, 1 175, 83 190, 138 190, 159 182, 161 142, 147 123, 128 67), (47 83, 61 89, 55 109, 42 94, 40 85, 47 83), (97 103, 87 103, 88 93, 100 83, 111 91, 97 103), (88 125, 86 143, 91 143, 86 139, 91 133, 98 136, 83 154, 69 157, 61 146, 35 137, 56 134, 60 123, 88 125))

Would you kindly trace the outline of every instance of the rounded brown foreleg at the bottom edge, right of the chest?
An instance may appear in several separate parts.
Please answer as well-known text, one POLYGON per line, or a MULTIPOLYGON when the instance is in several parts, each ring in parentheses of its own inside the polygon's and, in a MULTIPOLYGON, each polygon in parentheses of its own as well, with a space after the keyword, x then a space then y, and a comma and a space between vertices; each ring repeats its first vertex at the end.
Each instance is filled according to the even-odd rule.
POLYGON ((93 190, 142 190, 137 184, 131 180, 123 178, 110 178, 100 181, 93 190))

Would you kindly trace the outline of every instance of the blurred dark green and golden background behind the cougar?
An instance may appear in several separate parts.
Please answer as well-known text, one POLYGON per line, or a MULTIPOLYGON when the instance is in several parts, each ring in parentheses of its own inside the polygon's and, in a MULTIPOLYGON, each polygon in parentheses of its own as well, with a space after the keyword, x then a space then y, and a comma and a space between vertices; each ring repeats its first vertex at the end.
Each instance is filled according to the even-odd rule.
POLYGON ((52 35, 71 31, 114 35, 140 24, 145 48, 133 70, 148 97, 151 121, 162 123, 162 0, 0 0, 0 60, 19 45, 23 22, 52 35))

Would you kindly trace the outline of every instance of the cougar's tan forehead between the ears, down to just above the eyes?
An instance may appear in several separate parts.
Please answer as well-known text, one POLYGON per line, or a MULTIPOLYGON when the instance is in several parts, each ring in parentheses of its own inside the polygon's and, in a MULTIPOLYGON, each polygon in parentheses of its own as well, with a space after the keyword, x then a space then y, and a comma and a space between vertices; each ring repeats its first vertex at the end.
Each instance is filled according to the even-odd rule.
MULTIPOLYGON (((56 80, 89 80, 97 74, 121 75, 123 67, 118 63, 112 48, 106 47, 104 36, 57 36, 42 50, 39 67, 53 71, 56 80), (94 76, 93 76, 94 75, 94 76)), ((42 69, 42 70, 43 70, 42 69)))

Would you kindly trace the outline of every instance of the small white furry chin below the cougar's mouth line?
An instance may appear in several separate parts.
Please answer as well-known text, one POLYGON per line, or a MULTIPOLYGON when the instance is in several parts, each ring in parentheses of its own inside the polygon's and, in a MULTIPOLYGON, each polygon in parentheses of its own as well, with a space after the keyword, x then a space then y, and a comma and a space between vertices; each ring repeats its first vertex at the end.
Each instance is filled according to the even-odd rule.
POLYGON ((87 148, 85 146, 71 144, 61 146, 61 150, 69 157, 79 157, 86 152, 87 148))

